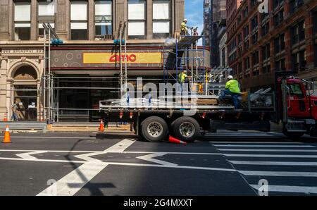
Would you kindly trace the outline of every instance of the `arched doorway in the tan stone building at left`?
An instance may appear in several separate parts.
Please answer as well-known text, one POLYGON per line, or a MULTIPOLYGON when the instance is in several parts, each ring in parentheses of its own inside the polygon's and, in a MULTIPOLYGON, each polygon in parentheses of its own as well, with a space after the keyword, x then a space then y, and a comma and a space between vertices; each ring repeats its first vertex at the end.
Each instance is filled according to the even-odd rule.
POLYGON ((12 75, 13 101, 18 104, 19 121, 37 121, 37 71, 32 66, 21 66, 12 75))

